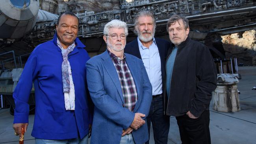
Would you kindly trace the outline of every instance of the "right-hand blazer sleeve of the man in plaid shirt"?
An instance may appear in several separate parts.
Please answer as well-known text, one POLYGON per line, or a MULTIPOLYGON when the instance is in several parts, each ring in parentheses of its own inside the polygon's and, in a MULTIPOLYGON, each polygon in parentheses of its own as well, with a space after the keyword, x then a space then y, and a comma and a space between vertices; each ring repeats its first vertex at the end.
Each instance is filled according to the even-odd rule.
POLYGON ((143 93, 141 98, 141 103, 139 105, 138 110, 136 113, 143 113, 146 116, 143 118, 145 119, 148 116, 150 105, 152 102, 152 86, 148 79, 147 71, 145 69, 145 66, 143 65, 143 62, 141 61, 141 77, 143 80, 143 93))

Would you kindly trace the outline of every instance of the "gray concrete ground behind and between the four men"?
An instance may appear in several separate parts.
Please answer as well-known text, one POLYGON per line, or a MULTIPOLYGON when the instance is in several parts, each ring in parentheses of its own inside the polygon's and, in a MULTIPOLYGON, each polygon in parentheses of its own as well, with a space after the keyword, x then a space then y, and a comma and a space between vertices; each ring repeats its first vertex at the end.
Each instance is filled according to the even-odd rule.
MULTIPOLYGON (((210 131, 212 144, 256 144, 256 67, 239 67, 242 79, 238 83, 241 111, 223 113, 210 107, 210 131)), ((28 130, 24 143, 33 144, 31 136, 33 117, 30 115, 28 130)), ((17 144, 19 138, 12 128, 13 116, 9 109, 0 110, 0 144, 17 144)), ((154 144, 153 132, 150 133, 150 144, 154 144)), ((170 118, 168 144, 181 144, 175 117, 170 118)))

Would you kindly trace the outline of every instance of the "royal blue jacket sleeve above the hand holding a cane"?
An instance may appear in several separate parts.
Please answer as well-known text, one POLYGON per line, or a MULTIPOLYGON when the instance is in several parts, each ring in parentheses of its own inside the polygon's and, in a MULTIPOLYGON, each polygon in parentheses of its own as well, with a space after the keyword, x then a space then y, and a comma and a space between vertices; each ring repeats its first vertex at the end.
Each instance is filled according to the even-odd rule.
POLYGON ((28 99, 30 97, 33 80, 35 79, 38 72, 37 64, 38 64, 37 56, 35 55, 35 52, 32 52, 20 76, 17 87, 13 92, 13 99, 15 102, 15 113, 14 113, 13 124, 28 123, 28 115, 29 115, 28 99))

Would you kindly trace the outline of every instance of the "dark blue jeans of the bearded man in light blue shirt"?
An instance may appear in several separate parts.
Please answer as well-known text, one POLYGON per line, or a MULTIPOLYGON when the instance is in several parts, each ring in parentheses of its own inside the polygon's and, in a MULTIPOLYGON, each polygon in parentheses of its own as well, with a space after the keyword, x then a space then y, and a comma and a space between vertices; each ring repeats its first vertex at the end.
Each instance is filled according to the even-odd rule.
MULTIPOLYGON (((163 114, 163 95, 152 99, 147 116, 148 135, 150 137, 150 125, 152 122, 155 144, 167 144, 170 127, 170 116, 163 114)), ((149 144, 149 140, 146 142, 149 144)))

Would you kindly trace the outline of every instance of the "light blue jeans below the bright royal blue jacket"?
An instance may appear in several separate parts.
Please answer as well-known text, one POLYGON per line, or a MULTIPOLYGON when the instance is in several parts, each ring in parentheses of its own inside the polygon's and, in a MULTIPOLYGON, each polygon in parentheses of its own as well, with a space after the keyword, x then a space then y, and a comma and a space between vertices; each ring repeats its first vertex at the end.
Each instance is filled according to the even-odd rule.
POLYGON ((78 137, 67 140, 46 140, 35 138, 35 144, 88 144, 88 135, 86 135, 82 139, 78 137))

